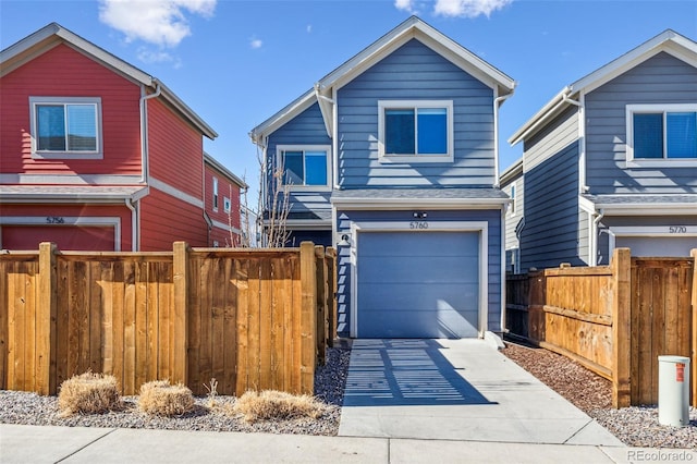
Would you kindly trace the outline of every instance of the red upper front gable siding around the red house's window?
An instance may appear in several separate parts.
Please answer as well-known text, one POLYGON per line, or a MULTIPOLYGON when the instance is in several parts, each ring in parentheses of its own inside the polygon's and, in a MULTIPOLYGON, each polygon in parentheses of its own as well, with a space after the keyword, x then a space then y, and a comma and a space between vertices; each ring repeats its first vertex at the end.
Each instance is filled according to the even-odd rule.
POLYGON ((0 172, 139 174, 139 97, 136 84, 59 45, 0 82, 0 172), (100 97, 103 159, 32 159, 30 96, 100 97))

